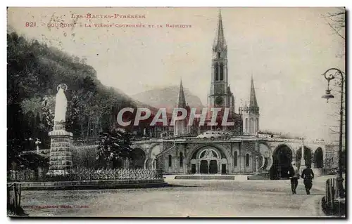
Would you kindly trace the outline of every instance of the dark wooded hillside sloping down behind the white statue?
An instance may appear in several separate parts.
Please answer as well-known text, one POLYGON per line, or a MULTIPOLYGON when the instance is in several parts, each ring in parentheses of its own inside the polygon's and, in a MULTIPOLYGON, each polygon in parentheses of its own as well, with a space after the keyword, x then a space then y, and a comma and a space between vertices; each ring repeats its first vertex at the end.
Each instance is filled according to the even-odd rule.
POLYGON ((119 108, 143 105, 116 88, 103 86, 84 58, 16 32, 7 34, 7 62, 8 140, 39 138, 50 144, 58 84, 68 86, 66 131, 73 132, 75 140, 97 138, 100 131, 110 129, 119 108))

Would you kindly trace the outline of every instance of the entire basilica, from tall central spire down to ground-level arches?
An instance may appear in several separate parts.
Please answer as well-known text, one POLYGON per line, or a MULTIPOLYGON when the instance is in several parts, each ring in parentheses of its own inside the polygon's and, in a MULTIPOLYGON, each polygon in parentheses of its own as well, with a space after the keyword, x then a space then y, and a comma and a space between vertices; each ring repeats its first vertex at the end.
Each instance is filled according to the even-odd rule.
MULTIPOLYGON (((211 60, 211 84, 208 108, 221 108, 232 126, 199 125, 199 118, 191 125, 189 117, 175 120, 172 125, 149 127, 146 135, 134 142, 135 152, 140 152, 144 169, 160 169, 164 174, 253 174, 270 173, 272 178, 284 178, 291 162, 298 166, 301 147, 305 149, 306 164, 322 169, 325 144, 302 143, 298 139, 260 135, 260 113, 253 77, 249 84, 249 105, 234 110, 234 94, 229 85, 227 44, 222 15, 213 43, 211 60), (308 155, 306 155, 308 153, 308 155)), ((190 105, 191 106, 191 105, 190 105)), ((191 110, 184 95, 182 81, 176 107, 191 110)), ((209 112, 210 110, 208 110, 209 112)), ((212 117, 206 114, 206 121, 212 117)), ((144 132, 146 129, 144 129, 144 132)))

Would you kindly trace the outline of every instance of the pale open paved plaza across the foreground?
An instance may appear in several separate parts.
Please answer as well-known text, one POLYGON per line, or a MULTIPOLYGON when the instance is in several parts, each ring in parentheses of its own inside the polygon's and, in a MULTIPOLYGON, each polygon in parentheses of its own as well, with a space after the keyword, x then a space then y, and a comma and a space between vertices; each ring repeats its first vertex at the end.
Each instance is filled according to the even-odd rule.
MULTIPOLYGON (((323 216, 324 189, 306 195, 302 180, 171 180, 170 187, 120 190, 24 191, 29 216, 312 217, 323 216)), ((317 181, 318 183, 318 181, 317 181)))

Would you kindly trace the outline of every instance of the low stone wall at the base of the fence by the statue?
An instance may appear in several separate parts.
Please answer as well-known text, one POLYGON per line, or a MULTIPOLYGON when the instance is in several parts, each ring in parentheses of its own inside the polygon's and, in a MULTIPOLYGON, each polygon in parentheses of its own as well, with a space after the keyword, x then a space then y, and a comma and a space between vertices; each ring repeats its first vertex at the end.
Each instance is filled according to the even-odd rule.
MULTIPOLYGON (((12 183, 8 183, 11 185, 12 183)), ((118 188, 148 188, 165 187, 163 179, 160 180, 75 180, 56 182, 23 182, 22 190, 95 190, 95 189, 118 189, 118 188)))

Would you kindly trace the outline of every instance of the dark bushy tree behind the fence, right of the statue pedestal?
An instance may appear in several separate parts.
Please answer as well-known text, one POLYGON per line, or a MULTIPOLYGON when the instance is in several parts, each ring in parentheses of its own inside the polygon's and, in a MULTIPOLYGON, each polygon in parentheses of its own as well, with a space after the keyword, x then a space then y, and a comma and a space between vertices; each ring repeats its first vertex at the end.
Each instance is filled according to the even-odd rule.
POLYGON ((132 134, 123 129, 101 133, 96 160, 104 168, 116 168, 120 159, 132 158, 132 134))

